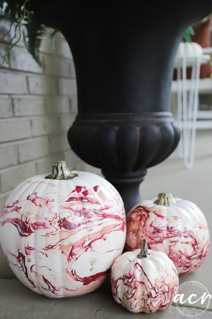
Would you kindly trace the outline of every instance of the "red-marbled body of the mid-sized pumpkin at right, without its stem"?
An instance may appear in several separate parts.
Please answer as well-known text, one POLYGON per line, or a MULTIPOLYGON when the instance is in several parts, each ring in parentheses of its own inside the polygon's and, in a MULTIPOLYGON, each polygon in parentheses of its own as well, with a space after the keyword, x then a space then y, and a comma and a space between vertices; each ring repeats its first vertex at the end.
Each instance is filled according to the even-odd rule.
POLYGON ((195 271, 209 251, 208 224, 193 203, 175 198, 176 206, 154 204, 156 198, 133 207, 127 217, 125 250, 141 247, 163 251, 174 262, 179 276, 195 271))

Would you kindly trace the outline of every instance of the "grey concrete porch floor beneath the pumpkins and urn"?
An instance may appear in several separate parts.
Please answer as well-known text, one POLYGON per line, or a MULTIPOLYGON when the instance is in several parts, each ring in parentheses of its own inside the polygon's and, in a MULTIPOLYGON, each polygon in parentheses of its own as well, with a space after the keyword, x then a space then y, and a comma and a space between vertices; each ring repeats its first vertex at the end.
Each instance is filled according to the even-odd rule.
MULTIPOLYGON (((191 169, 183 166, 175 151, 167 160, 148 170, 146 180, 140 186, 144 199, 156 197, 159 192, 171 192, 174 197, 181 197, 197 204, 206 216, 212 233, 212 130, 197 131, 195 163, 191 169)), ((192 274, 180 277, 180 284, 186 281, 198 281, 207 287, 212 294, 212 251, 192 274)), ((147 318, 148 314, 132 314, 121 308, 114 300, 110 291, 109 280, 97 291, 84 296, 68 299, 50 299, 38 295, 16 278, 11 278, 4 261, 1 261, 0 279, 0 319, 45 319, 45 318, 147 318), (8 279, 7 279, 7 278, 8 279), (9 278, 10 277, 10 278, 9 278)), ((182 307, 189 313, 189 304, 182 307)), ((157 311, 151 318, 192 318, 181 314, 173 305, 167 310, 157 311)), ((212 318, 212 300, 209 308, 195 318, 212 318)))

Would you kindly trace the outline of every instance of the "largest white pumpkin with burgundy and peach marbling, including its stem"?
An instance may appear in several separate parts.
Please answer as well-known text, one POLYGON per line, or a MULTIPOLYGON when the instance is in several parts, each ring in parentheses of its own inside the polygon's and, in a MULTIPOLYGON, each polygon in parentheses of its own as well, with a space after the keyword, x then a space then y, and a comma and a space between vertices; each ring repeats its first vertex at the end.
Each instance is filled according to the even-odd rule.
POLYGON ((18 185, 0 219, 4 254, 17 278, 48 297, 97 289, 122 253, 126 218, 122 199, 104 178, 69 172, 64 161, 52 174, 18 185))

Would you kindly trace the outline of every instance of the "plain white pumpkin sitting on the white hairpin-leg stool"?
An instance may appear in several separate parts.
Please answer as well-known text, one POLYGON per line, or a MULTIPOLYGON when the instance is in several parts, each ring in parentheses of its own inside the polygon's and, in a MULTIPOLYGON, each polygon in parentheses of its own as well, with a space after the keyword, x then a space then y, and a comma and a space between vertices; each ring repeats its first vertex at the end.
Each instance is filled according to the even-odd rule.
POLYGON ((181 56, 202 56, 203 49, 199 43, 196 42, 180 42, 177 49, 176 57, 181 56))

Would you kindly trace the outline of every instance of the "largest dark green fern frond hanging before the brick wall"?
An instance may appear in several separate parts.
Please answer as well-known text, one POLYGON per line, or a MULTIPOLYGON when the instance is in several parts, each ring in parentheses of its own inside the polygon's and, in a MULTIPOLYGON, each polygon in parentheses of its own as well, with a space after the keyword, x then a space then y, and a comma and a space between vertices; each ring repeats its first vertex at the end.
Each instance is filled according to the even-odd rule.
POLYGON ((27 48, 35 61, 41 66, 39 49, 43 36, 46 32, 46 27, 41 24, 36 19, 31 18, 31 22, 26 21, 26 30, 27 30, 27 48))

